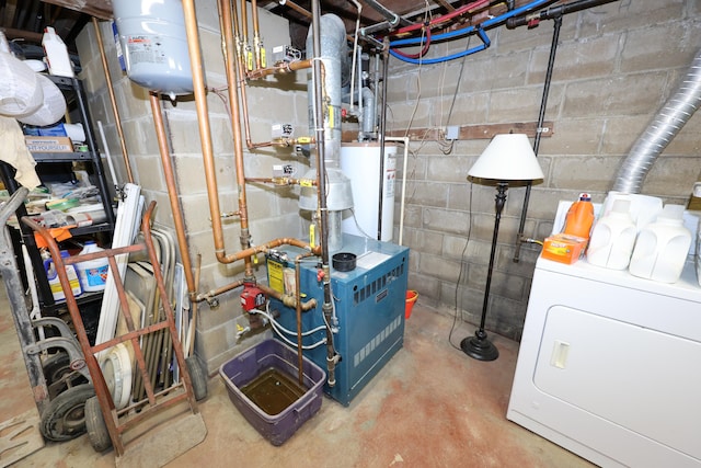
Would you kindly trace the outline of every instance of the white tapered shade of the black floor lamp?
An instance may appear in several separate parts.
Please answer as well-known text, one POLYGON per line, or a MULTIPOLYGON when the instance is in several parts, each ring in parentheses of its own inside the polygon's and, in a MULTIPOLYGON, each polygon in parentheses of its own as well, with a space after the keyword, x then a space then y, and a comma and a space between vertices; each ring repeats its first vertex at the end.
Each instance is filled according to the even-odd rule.
POLYGON ((526 134, 496 135, 470 168, 468 176, 495 181, 536 181, 544 178, 526 134))

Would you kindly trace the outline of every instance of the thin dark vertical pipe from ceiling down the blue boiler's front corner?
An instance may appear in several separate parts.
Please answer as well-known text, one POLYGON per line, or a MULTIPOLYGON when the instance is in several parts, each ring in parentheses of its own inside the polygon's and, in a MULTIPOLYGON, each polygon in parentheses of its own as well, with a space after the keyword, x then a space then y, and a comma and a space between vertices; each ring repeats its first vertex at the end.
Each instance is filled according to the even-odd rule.
MULTIPOLYGON (((326 323, 326 369, 329 387, 336 385, 336 363, 340 356, 333 345, 333 332, 331 331, 331 318, 333 315, 333 295, 331 294, 331 269, 329 267, 329 212, 326 209, 326 161, 325 161, 325 129, 324 129, 324 109, 323 109, 323 78, 321 73, 321 7, 319 0, 312 0, 312 48, 313 64, 312 72, 314 79, 314 122, 317 135, 317 190, 318 190, 318 212, 321 214, 321 265, 323 274, 324 303, 321 311, 326 323), (323 181, 323 183, 322 183, 323 181)), ((331 130, 331 129, 330 129, 331 130)), ((332 130, 331 130, 332 132, 332 130)))

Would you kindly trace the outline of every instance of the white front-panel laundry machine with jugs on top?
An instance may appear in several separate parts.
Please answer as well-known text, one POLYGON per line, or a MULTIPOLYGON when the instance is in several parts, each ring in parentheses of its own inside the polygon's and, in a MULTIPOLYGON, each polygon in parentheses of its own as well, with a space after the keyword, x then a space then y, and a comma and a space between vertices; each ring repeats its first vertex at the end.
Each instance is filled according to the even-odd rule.
POLYGON ((701 466, 701 287, 539 259, 507 419, 604 467, 701 466))

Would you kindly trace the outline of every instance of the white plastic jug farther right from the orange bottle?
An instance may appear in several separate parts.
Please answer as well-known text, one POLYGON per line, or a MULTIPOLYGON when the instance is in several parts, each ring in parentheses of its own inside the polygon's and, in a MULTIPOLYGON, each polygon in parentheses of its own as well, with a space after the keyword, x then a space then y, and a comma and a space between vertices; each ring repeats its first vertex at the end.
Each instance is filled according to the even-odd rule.
POLYGON ((657 220, 640 231, 629 266, 632 275, 660 283, 679 279, 691 247, 682 216, 682 205, 665 205, 657 220))

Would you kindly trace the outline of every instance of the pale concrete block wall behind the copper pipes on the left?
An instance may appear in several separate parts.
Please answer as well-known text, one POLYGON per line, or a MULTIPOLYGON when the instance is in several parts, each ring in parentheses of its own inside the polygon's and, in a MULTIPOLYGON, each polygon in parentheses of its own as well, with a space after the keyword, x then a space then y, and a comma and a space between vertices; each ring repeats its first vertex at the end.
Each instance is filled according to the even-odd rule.
MULTIPOLYGON (((216 155, 219 203, 223 213, 234 213, 238 210, 238 187, 231 123, 223 102, 228 101, 228 95, 225 90, 226 71, 216 0, 197 1, 196 9, 207 87, 219 90, 219 94, 223 96, 222 99, 218 93, 209 92, 207 98, 211 140, 216 155)), ((286 20, 265 10, 261 10, 258 16, 261 34, 268 50, 274 45, 289 44, 289 28, 286 20)), ((111 24, 101 22, 100 31, 105 44, 134 182, 141 185, 147 201, 157 201, 158 227, 173 230, 173 217, 156 138, 149 93, 134 84, 120 70, 115 44, 112 41, 111 24)), ((249 31, 253 31, 252 25, 249 31)), ((96 129, 96 122, 103 123, 107 149, 117 172, 118 183, 127 182, 127 171, 92 24, 88 24, 81 32, 77 44, 83 68, 81 78, 89 93, 93 124, 96 129)), ((198 290, 207 292, 241 278, 243 263, 221 264, 215 256, 200 137, 193 98, 179 99, 176 103, 165 98, 161 102, 180 203, 184 213, 189 256, 194 264, 196 255, 202 255, 202 278, 198 290)), ((252 82, 249 87, 249 107, 253 141, 269 140, 271 127, 277 123, 292 123, 296 135, 306 135, 308 127, 306 73, 300 71, 281 78, 269 77, 266 80, 252 82)), ((299 174, 306 173, 309 169, 307 158, 297 158, 289 150, 278 151, 269 148, 246 150, 244 159, 245 175, 252 178, 271 176, 273 164, 279 163, 292 164, 299 174)), ((246 196, 253 243, 261 244, 280 237, 301 237, 302 224, 294 189, 280 190, 248 184, 246 196)), ((237 216, 225 219, 223 231, 227 253, 239 251, 241 249, 240 224, 237 216)), ((263 264, 264 261, 261 259, 255 270, 261 281, 266 278, 263 264)), ((240 290, 234 290, 220 295, 218 307, 210 308, 206 303, 199 304, 195 352, 206 364, 210 374, 216 373, 220 364, 243 347, 252 345, 256 338, 261 338, 240 340, 237 335, 237 326, 245 324, 241 316, 239 293, 240 290)))

